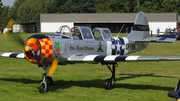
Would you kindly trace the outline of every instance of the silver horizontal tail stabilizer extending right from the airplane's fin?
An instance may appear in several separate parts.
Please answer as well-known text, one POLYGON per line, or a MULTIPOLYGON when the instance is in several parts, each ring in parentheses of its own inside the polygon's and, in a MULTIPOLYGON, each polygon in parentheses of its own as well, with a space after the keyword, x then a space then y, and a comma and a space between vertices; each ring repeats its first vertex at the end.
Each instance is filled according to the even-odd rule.
POLYGON ((150 37, 142 40, 134 40, 136 42, 159 42, 159 43, 173 43, 175 38, 163 38, 163 37, 150 37))

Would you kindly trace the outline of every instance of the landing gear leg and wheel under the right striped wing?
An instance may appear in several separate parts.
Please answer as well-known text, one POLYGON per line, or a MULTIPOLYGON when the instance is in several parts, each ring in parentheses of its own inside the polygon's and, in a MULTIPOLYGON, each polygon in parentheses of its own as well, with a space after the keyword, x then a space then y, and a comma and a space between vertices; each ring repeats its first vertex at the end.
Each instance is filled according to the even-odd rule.
POLYGON ((110 79, 107 79, 104 83, 104 88, 106 90, 110 90, 114 88, 114 82, 115 82, 115 68, 118 66, 117 63, 110 63, 110 64, 106 64, 107 67, 109 68, 109 70, 112 73, 112 77, 110 79), (110 67, 112 65, 112 68, 110 67))

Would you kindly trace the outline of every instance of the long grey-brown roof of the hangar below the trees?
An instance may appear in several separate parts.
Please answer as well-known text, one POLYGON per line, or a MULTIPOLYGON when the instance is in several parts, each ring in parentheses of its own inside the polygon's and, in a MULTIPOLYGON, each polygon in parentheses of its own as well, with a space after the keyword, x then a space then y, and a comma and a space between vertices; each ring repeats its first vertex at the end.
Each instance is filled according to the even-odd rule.
MULTIPOLYGON (((137 13, 42 13, 40 22, 134 23, 137 13)), ((180 22, 177 13, 145 13, 149 22, 180 22)))

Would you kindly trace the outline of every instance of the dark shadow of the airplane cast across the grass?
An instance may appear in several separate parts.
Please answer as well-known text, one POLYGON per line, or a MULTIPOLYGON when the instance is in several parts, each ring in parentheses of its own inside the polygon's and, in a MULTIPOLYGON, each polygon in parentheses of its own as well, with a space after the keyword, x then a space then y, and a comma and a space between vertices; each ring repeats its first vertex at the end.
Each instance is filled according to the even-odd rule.
MULTIPOLYGON (((157 76, 154 74, 117 74, 117 75, 129 75, 129 77, 120 77, 116 78, 116 81, 121 81, 125 79, 135 78, 135 77, 141 77, 141 76, 150 76, 150 77, 164 77, 164 78, 175 78, 175 77, 169 77, 169 76, 157 76)), ((9 81, 9 82, 21 82, 24 84, 33 84, 37 83, 40 84, 41 80, 31 80, 26 78, 0 78, 0 81, 9 81)), ((49 91, 55 91, 57 89, 67 89, 72 86, 78 86, 78 87, 95 87, 95 88, 104 88, 104 81, 101 79, 96 80, 83 80, 83 81, 66 81, 66 80, 57 80, 53 81, 53 86, 49 87, 49 91)), ((164 87, 164 86, 156 86, 156 85, 142 85, 142 84, 119 84, 116 83, 115 88, 126 88, 126 89, 132 89, 132 90, 163 90, 163 91, 170 91, 173 90, 174 87, 164 87)))

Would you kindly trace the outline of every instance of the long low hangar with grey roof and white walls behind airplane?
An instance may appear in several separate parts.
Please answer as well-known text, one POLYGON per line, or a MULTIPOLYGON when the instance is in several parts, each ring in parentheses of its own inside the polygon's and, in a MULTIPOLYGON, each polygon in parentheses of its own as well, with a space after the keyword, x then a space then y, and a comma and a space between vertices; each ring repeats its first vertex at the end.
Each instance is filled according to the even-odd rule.
MULTIPOLYGON (((122 32, 133 26, 137 13, 42 13, 40 14, 41 32, 56 32, 62 25, 106 27, 112 33, 118 33, 124 24, 122 32)), ((156 34, 159 28, 164 32, 166 28, 179 28, 178 13, 146 13, 150 30, 156 34)))

